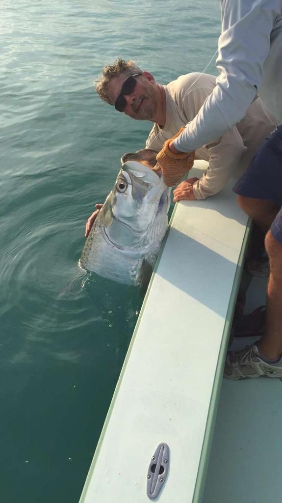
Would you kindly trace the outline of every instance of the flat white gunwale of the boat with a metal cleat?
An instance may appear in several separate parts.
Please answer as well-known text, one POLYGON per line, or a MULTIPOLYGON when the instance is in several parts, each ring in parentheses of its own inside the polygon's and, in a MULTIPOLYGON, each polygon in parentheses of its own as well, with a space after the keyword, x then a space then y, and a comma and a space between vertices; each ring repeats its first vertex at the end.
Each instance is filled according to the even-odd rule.
MULTIPOLYGON (((207 164, 195 164, 200 178, 207 164)), ((80 503, 202 499, 250 229, 232 185, 175 207, 80 503), (160 444, 170 462, 155 476, 160 444)))

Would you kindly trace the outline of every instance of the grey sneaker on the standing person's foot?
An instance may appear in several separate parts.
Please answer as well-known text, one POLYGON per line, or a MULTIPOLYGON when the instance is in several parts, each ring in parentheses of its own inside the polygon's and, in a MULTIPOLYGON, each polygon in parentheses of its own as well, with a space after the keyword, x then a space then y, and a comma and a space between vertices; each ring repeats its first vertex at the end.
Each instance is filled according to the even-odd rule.
POLYGON ((249 379, 252 377, 282 377, 282 357, 269 363, 259 355, 257 346, 246 346, 239 351, 227 353, 224 372, 227 379, 249 379))

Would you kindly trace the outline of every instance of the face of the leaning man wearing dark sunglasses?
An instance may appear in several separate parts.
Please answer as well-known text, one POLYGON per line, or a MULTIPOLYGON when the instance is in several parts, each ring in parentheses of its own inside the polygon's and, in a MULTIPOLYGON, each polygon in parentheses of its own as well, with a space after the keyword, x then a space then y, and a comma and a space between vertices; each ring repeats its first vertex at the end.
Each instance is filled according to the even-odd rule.
MULTIPOLYGON (((123 82, 128 75, 120 74, 112 77, 108 84, 108 96, 112 104, 120 94, 123 82)), ((136 86, 130 95, 123 95, 125 100, 125 109, 123 113, 139 121, 153 121, 156 110, 159 108, 161 95, 156 85, 154 77, 143 72, 142 75, 134 77, 136 86)))

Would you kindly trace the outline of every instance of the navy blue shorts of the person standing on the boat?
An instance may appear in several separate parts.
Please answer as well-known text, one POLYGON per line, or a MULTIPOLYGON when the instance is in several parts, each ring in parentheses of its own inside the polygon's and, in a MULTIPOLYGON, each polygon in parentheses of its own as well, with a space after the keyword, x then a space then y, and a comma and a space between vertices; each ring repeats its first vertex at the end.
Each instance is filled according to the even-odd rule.
MULTIPOLYGON (((233 191, 240 196, 264 199, 282 206, 282 124, 263 141, 233 191)), ((282 209, 278 211, 270 230, 282 244, 282 209)))

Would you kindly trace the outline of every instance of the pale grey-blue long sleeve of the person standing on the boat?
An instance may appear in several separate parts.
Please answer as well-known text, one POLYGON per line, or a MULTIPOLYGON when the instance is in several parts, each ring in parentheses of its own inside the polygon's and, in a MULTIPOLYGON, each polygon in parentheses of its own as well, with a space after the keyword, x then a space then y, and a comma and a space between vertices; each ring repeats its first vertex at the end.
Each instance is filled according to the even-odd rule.
MULTIPOLYGON (((216 87, 196 117, 174 140, 188 152, 222 136, 245 115, 256 96, 281 0, 226 0, 218 41, 216 87)), ((224 4, 224 2, 223 2, 224 4)))

